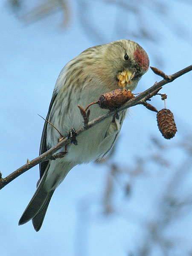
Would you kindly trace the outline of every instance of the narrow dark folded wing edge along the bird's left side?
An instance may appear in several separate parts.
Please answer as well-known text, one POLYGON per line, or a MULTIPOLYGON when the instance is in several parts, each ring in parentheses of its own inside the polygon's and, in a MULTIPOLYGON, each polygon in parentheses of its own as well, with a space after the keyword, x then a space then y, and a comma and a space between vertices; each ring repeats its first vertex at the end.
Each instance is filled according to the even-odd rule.
MULTIPOLYGON (((55 101, 55 98, 57 96, 57 93, 54 91, 53 94, 52 94, 52 99, 51 99, 51 103, 49 105, 49 111, 47 113, 47 117, 46 117, 46 120, 49 119, 49 114, 51 112, 51 108, 52 108, 52 105, 55 101)), ((41 145, 40 145, 40 151, 39 151, 39 154, 43 154, 44 152, 46 152, 49 148, 47 147, 47 122, 45 121, 44 123, 44 129, 43 129, 43 133, 42 133, 42 136, 41 136, 41 145)), ((43 177, 44 175, 44 172, 48 166, 48 163, 49 161, 45 161, 45 162, 42 162, 40 163, 39 165, 39 169, 40 169, 40 179, 43 177)))

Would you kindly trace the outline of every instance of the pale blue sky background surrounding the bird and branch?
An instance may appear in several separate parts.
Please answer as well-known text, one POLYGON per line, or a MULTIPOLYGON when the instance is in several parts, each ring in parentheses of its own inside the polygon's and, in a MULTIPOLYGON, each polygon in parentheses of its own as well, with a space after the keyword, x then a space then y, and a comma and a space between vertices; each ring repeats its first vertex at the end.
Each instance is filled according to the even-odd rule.
MULTIPOLYGON (((61 12, 25 25, 7 8, 6 1, 0 2, 0 171, 3 177, 25 164, 27 158, 32 160, 38 156, 44 121, 37 113, 47 115, 58 74, 84 49, 128 38, 137 41, 148 52, 151 66, 159 67, 166 74, 192 64, 191 1, 169 1, 169 11, 163 18, 158 13, 149 12, 147 4, 150 6, 150 2, 146 1, 141 8, 141 20, 150 28, 156 43, 133 35, 128 37, 128 32, 134 31, 137 24, 133 15, 125 10, 106 2, 90 1, 91 8, 87 13, 79 13, 81 2, 71 2, 71 20, 65 30, 59 25, 61 12), (95 36, 96 33, 87 35, 78 15, 90 15, 100 37, 95 36), (180 37, 173 31, 175 23, 181 26, 180 37)), ((166 4, 166 1, 160 3, 166 4)), ((188 73, 161 90, 168 95, 166 106, 175 116, 178 132, 174 139, 165 140, 158 131, 156 114, 138 105, 131 109, 123 124, 112 160, 124 171, 128 166, 136 166, 136 156, 147 158, 151 152, 158 153, 150 144, 150 137, 154 136, 168 147, 165 155, 172 168, 149 163, 145 166, 145 175, 121 175, 120 182, 114 185, 114 213, 104 217, 102 200, 108 168, 96 163, 76 166, 55 191, 44 224, 36 233, 31 222, 18 226, 18 220, 35 192, 39 176, 39 167, 35 166, 0 191, 1 255, 140 255, 140 247, 149 239, 146 226, 160 218, 164 193, 169 190, 174 197, 182 199, 189 195, 191 198, 192 157, 175 148, 192 130, 191 79, 192 73, 188 73), (183 171, 185 175, 179 180, 176 176, 174 181, 183 161, 188 164, 188 172, 183 171), (129 198, 125 197, 121 186, 125 180, 134 180, 129 198)), ((147 89, 156 80, 161 79, 148 70, 135 92, 147 89)), ((151 103, 159 110, 164 108, 163 101, 157 96, 151 103)), ((192 251, 191 217, 189 207, 182 218, 163 230, 167 241, 176 241, 169 255, 188 255, 192 251)), ((152 248, 150 255, 165 255, 158 243, 152 248)))

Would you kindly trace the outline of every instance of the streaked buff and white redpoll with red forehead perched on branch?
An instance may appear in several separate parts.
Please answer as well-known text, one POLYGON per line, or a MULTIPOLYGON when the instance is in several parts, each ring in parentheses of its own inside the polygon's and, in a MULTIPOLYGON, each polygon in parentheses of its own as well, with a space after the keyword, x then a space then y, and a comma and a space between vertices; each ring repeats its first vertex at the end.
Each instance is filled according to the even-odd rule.
MULTIPOLYGON (((134 90, 148 66, 149 59, 144 49, 134 41, 126 39, 81 52, 61 70, 46 119, 67 137, 72 128, 76 130, 82 126, 82 116, 77 105, 86 108, 102 93, 115 90, 119 86, 134 90)), ((105 109, 93 105, 89 119, 104 113, 105 109)), ((108 153, 119 135, 125 114, 126 111, 122 111, 119 113, 119 119, 105 119, 80 134, 77 138, 78 145, 68 145, 67 154, 63 158, 40 164, 37 189, 23 212, 19 225, 32 219, 35 230, 40 230, 55 189, 74 166, 101 159, 108 153)), ((45 122, 40 154, 56 145, 58 139, 58 131, 45 122)), ((61 151, 64 149, 58 150, 61 151)))

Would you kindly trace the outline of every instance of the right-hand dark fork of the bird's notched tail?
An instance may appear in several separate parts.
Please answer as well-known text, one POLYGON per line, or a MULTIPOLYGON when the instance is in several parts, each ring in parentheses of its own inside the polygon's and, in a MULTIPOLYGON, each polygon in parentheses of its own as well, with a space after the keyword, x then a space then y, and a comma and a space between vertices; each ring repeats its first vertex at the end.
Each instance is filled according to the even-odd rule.
POLYGON ((52 190, 51 192, 49 192, 47 198, 46 198, 46 202, 44 202, 44 206, 41 208, 41 210, 35 215, 35 217, 32 218, 32 224, 33 224, 33 227, 35 229, 35 231, 39 231, 42 224, 43 224, 43 221, 44 221, 44 218, 45 218, 45 214, 47 212, 47 207, 49 205, 49 202, 52 198, 52 195, 53 195, 53 192, 55 190, 52 190))

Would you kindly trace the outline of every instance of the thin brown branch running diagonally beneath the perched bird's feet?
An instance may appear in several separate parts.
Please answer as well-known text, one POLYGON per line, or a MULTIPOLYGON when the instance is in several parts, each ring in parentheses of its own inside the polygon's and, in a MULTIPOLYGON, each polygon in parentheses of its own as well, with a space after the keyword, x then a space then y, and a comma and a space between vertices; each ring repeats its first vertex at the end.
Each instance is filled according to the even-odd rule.
MULTIPOLYGON (((152 70, 154 70, 154 68, 152 68, 152 70)), ((152 87, 150 87, 149 89, 145 90, 143 93, 140 93, 137 97, 135 97, 133 99, 130 99, 122 107, 117 108, 114 111, 108 111, 104 115, 99 116, 96 119, 93 119, 92 121, 88 122, 86 125, 84 125, 81 128, 77 129, 76 130, 76 136, 78 136, 79 134, 81 134, 85 130, 90 129, 91 127, 93 127, 97 123, 102 122, 106 118, 114 116, 117 112, 123 111, 123 110, 125 110, 127 108, 131 108, 131 107, 133 107, 135 105, 138 105, 138 104, 143 104, 143 102, 145 102, 146 100, 148 100, 152 96, 154 96, 154 92, 158 91, 157 89, 159 89, 160 87, 162 87, 165 84, 168 84, 168 83, 174 81, 179 76, 182 76, 183 74, 185 74, 185 73, 187 73, 187 72, 189 72, 191 70, 192 70, 192 65, 189 66, 189 67, 184 68, 183 70, 178 71, 177 73, 175 73, 173 75, 170 75, 170 76, 166 76, 165 75, 165 79, 161 80, 158 83, 155 82, 155 84, 152 87)), ((160 75, 160 76, 162 75, 161 72, 158 73, 157 69, 155 70, 155 73, 160 75)), ((57 145, 55 145, 54 147, 52 147, 49 150, 47 150, 44 154, 41 154, 40 156, 36 157, 35 159, 33 159, 31 161, 27 160, 27 163, 25 165, 21 166, 19 169, 17 169, 15 172, 12 172, 7 177, 3 178, 1 173, 0 173, 0 189, 2 189, 9 182, 14 180, 16 177, 18 177, 19 175, 23 174, 27 170, 31 169, 32 167, 36 166, 37 164, 39 164, 41 162, 44 162, 44 161, 47 161, 47 160, 57 159, 58 157, 63 157, 66 152, 62 152, 63 154, 59 154, 59 155, 56 152, 58 151, 58 149, 63 148, 65 145, 69 145, 69 144, 70 144, 70 140, 68 138, 64 138, 63 140, 58 142, 57 145)))

